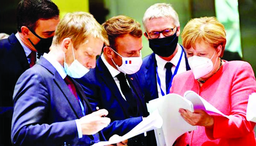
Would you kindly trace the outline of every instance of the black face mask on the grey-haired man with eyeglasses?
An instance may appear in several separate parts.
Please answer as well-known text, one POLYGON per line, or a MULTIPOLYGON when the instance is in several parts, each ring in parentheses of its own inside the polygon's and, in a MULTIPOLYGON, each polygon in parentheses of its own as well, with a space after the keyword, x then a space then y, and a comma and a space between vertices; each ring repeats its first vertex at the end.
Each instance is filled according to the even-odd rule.
POLYGON ((172 36, 166 36, 160 39, 148 39, 149 47, 151 50, 162 57, 169 57, 171 56, 178 43, 178 36, 173 34, 172 36))

